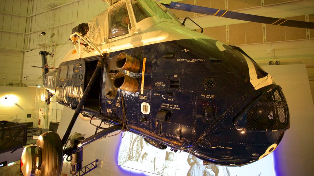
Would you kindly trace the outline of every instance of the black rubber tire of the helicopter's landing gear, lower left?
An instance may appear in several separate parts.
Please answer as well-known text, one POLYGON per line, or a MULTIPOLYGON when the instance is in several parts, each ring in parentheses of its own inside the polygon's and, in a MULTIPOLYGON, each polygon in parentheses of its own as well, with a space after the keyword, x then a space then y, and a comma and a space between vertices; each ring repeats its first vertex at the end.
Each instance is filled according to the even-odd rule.
POLYGON ((44 132, 37 140, 41 148, 41 168, 38 176, 59 176, 63 164, 62 142, 55 132, 44 132))

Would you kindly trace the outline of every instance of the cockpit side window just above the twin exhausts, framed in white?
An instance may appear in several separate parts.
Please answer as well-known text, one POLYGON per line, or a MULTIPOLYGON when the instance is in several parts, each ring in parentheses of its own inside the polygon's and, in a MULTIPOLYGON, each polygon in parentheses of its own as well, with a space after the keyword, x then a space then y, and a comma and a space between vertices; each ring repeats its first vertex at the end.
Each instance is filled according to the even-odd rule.
POLYGON ((131 28, 126 3, 109 11, 109 39, 128 34, 131 28))

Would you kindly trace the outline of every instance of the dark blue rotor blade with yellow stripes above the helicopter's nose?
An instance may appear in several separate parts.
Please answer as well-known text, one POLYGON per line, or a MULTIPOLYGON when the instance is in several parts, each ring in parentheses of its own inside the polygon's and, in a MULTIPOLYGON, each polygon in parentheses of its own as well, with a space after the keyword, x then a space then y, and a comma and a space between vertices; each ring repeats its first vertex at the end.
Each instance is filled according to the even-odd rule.
POLYGON ((194 13, 202 13, 206 15, 212 15, 212 16, 218 16, 218 17, 224 17, 224 18, 239 19, 239 20, 251 21, 251 22, 256 22, 256 23, 274 24, 274 25, 279 25, 279 26, 290 26, 290 27, 296 27, 296 28, 314 29, 314 23, 312 22, 264 17, 264 16, 259 16, 259 15, 232 12, 228 10, 207 8, 207 7, 195 6, 195 5, 184 4, 184 3, 177 3, 177 2, 171 2, 170 4, 163 4, 163 5, 166 8, 194 12, 194 13))

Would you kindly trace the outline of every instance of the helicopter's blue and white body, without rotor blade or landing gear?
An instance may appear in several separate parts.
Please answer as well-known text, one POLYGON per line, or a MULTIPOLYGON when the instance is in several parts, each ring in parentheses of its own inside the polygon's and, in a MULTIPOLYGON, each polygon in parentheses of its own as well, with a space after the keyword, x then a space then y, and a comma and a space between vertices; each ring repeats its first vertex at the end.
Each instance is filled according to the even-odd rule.
MULTIPOLYGON (((131 5, 132 28, 107 37, 106 15, 125 2, 90 23, 89 37, 106 60, 84 103, 84 116, 113 124, 125 120, 127 131, 220 165, 252 163, 277 147, 289 127, 289 112, 268 73, 238 47, 175 19, 136 23, 131 5)), ((101 57, 88 46, 74 45, 81 49, 71 50, 45 75, 46 89, 73 109, 101 57)))

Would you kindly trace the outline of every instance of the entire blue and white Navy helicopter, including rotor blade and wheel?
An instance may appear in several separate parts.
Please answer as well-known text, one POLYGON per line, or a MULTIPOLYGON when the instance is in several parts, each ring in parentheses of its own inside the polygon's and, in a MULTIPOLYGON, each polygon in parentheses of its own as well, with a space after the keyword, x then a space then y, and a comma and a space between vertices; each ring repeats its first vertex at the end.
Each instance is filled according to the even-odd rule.
MULTIPOLYGON (((253 163, 277 148, 290 127, 282 88, 239 47, 186 28, 168 8, 243 15, 174 2, 106 2, 104 12, 73 28, 74 49, 57 68, 40 52, 47 104, 55 96, 75 112, 62 139, 45 132, 24 148, 24 175, 59 175, 64 155, 75 173, 83 147, 115 131, 224 166, 253 163), (101 120, 94 135, 70 137, 78 115, 101 120)), ((262 22, 313 28, 281 20, 262 22)))

